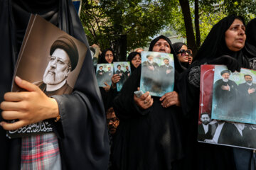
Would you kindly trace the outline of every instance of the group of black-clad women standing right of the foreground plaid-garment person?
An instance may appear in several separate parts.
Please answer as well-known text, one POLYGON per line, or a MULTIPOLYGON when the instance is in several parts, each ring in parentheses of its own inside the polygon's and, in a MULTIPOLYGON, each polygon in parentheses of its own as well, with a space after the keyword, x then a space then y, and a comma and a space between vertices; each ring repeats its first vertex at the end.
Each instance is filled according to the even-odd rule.
MULTIPOLYGON (((111 134, 109 169, 255 169, 250 149, 197 142, 201 64, 224 64, 231 72, 256 69, 255 27, 256 19, 246 26, 240 16, 225 17, 213 26, 194 57, 183 42, 171 44, 164 35, 152 40, 149 51, 174 55, 174 91, 161 97, 149 92, 134 95, 140 86, 142 56, 131 52, 127 61, 132 75, 122 90, 115 90, 117 74, 111 87, 100 88, 105 109, 114 108, 119 121, 111 134)), ((98 60, 114 61, 110 49, 98 60)))

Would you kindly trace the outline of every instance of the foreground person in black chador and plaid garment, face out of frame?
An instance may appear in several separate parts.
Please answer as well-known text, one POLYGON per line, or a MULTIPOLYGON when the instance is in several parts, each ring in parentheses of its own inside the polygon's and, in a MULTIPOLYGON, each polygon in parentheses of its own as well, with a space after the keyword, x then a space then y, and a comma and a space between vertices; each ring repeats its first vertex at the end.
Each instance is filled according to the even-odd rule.
MULTIPOLYGON (((0 102, 6 100, 4 94, 11 89, 18 52, 31 13, 37 13, 84 42, 89 49, 85 31, 71 0, 0 1, 0 102)), ((36 86, 29 83, 27 85, 36 86)), ((10 118, 8 113, 3 114, 6 108, 1 103, 0 122, 3 127, 0 128, 0 169, 107 169, 110 150, 107 126, 90 50, 87 50, 72 94, 48 98, 40 89, 15 94, 26 94, 30 101, 26 102, 26 114, 18 112, 18 108, 15 108, 18 118, 10 118), (55 105, 49 101, 55 101, 55 105, 58 103, 58 109, 54 112, 51 111, 55 105), (60 115, 57 122, 54 121, 55 118, 47 116, 54 113, 60 115), (6 137, 6 130, 9 128, 4 126, 8 123, 4 121, 20 119, 21 114, 21 126, 27 122, 33 123, 50 118, 48 121, 53 132, 9 139, 6 137), (25 121, 26 119, 29 121, 25 121)), ((10 98, 8 100, 14 105, 20 102, 11 101, 10 98)), ((11 109, 8 108, 7 111, 11 109)))

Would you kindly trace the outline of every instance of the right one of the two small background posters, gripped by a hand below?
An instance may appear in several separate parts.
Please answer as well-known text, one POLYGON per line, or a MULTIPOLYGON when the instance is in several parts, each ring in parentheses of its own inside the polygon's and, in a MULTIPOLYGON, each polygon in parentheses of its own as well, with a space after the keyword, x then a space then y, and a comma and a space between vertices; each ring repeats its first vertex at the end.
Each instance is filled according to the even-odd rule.
POLYGON ((129 62, 113 62, 114 74, 118 74, 120 80, 117 82, 117 91, 122 89, 124 82, 131 75, 131 66, 129 62))

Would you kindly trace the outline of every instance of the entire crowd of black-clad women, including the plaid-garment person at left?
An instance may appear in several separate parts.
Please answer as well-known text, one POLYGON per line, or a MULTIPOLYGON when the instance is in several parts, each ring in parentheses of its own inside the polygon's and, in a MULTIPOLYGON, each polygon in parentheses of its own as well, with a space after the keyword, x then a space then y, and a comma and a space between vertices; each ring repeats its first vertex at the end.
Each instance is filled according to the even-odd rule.
MULTIPOLYGON (((31 13, 38 13, 89 49, 72 1, 4 0, 0 8, 0 68, 4 73, 0 75, 1 169, 107 169, 107 164, 108 169, 118 170, 256 169, 252 149, 197 142, 200 66, 225 64, 231 72, 240 72, 241 67, 256 69, 256 18, 247 25, 240 16, 223 18, 210 30, 193 60, 186 44, 172 44, 163 35, 154 38, 149 51, 174 56, 174 91, 161 97, 149 92, 134 95, 141 86, 139 51, 127 58, 132 74, 121 91, 117 91, 118 74, 112 76, 111 86, 97 88, 87 52, 73 93, 47 97, 36 85, 17 77, 16 84, 27 91, 8 92, 18 50, 31 13), (18 128, 49 119, 54 138, 40 134, 9 139, 6 130, 14 129, 6 120, 16 119, 28 122, 18 128)), ((107 49, 98 63, 115 61, 114 51, 107 49)))

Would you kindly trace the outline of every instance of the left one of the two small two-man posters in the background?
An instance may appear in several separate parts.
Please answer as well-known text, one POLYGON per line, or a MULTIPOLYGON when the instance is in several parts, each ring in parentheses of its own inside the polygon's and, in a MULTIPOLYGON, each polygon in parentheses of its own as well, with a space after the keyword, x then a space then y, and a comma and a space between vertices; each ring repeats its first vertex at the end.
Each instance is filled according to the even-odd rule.
POLYGON ((114 66, 113 64, 97 64, 96 67, 96 79, 97 84, 100 87, 107 85, 111 86, 111 78, 113 76, 114 66))

